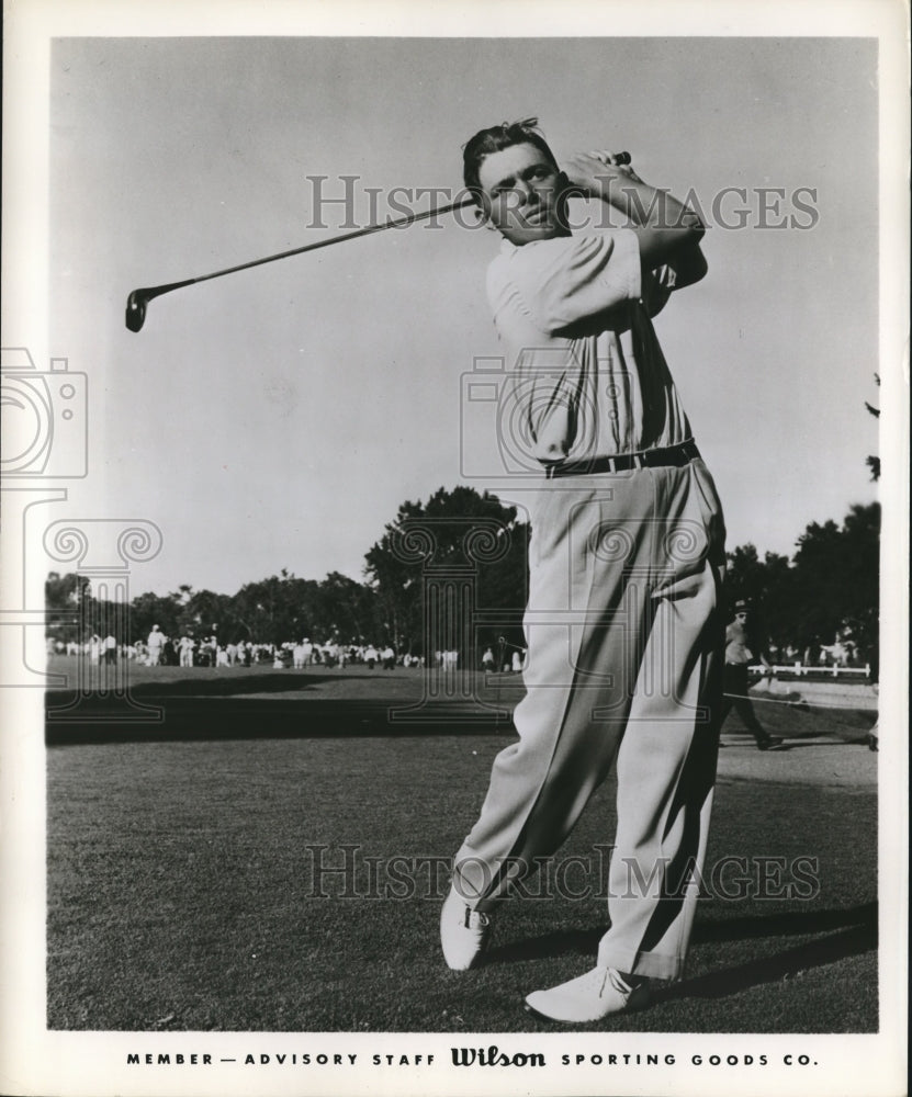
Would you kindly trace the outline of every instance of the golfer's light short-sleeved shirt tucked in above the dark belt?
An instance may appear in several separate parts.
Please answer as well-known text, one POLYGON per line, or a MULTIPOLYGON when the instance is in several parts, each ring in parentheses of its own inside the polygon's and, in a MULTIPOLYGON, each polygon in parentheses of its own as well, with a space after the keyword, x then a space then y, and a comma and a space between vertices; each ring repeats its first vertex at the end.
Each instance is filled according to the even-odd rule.
POLYGON ((674 285, 669 267, 642 271, 631 229, 504 240, 487 295, 513 371, 511 442, 550 463, 690 438, 651 319, 674 285))

